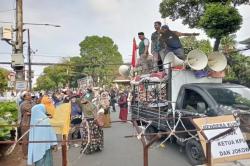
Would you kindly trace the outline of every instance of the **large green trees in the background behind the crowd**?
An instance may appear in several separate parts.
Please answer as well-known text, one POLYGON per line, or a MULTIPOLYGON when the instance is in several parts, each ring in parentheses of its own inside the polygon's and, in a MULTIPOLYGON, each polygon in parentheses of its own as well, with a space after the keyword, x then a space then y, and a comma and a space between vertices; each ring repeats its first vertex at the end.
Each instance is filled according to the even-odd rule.
POLYGON ((63 66, 44 69, 44 74, 37 79, 36 90, 56 89, 68 83, 70 87, 77 87, 77 80, 85 76, 92 76, 98 85, 111 84, 122 63, 113 40, 105 36, 87 36, 79 46, 81 56, 71 57, 63 66))

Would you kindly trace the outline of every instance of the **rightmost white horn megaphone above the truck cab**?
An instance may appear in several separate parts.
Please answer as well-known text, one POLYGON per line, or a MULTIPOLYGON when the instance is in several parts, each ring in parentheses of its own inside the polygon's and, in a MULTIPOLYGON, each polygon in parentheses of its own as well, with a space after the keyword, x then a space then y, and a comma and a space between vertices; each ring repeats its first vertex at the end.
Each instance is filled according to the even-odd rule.
POLYGON ((213 71, 223 71, 227 67, 227 58, 220 52, 213 52, 208 56, 208 67, 213 71))

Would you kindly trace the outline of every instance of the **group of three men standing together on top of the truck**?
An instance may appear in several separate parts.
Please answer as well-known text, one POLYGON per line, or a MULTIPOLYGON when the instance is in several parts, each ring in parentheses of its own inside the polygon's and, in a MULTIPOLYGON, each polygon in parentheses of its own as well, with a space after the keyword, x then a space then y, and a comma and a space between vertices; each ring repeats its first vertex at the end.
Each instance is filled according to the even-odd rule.
POLYGON ((185 60, 186 56, 179 37, 199 35, 199 33, 172 31, 168 25, 162 26, 160 21, 154 22, 154 28, 155 32, 151 35, 152 56, 149 56, 149 39, 145 37, 144 32, 138 33, 140 43, 138 45, 139 59, 137 67, 141 66, 143 73, 162 70, 161 64, 169 52, 173 52, 177 58, 185 60))

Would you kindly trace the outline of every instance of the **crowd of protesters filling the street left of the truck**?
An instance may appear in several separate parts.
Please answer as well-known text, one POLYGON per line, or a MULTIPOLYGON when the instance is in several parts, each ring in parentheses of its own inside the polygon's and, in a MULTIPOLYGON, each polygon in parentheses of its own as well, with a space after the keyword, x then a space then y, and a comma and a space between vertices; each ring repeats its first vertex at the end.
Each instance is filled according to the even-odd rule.
POLYGON ((118 104, 119 118, 126 122, 131 96, 129 91, 117 88, 108 91, 91 87, 78 92, 64 89, 35 96, 23 91, 19 95, 18 135, 22 137, 23 158, 28 160, 28 164, 35 163, 36 166, 53 164, 51 149, 55 149, 62 135, 66 135, 68 140, 81 140, 81 144, 69 141, 68 148, 81 146, 85 154, 102 151, 103 128, 111 127, 111 112, 117 111, 118 104), (58 129, 57 125, 63 126, 63 129, 58 129))

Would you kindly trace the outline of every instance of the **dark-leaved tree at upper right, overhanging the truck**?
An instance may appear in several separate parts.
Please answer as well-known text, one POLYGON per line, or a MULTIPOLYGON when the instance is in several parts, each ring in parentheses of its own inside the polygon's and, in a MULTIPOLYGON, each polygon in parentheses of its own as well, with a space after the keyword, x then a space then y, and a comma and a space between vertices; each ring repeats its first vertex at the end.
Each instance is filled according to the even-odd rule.
POLYGON ((218 34, 216 34, 216 36, 214 36, 214 33, 210 34, 210 29, 215 28, 213 29, 214 31, 221 31, 226 28, 227 30, 223 31, 222 36, 235 32, 239 28, 241 21, 238 17, 238 11, 230 6, 236 7, 241 4, 249 4, 249 0, 162 0, 160 3, 160 13, 162 18, 169 17, 172 20, 182 19, 182 23, 184 25, 189 25, 190 28, 204 28, 208 36, 217 38, 214 46, 214 50, 216 50, 220 38, 218 38, 218 34), (218 5, 220 7, 219 10, 223 11, 223 17, 214 14, 219 11, 212 9, 213 5, 218 5), (207 10, 210 10, 212 13, 207 10), (230 15, 230 13, 233 15, 230 15), (233 18, 231 18, 232 16, 233 18), (203 17, 206 19, 204 18, 203 21, 201 21, 203 17), (219 21, 216 20, 217 17, 220 17, 219 21), (237 24, 230 24, 231 19, 237 24), (225 26, 229 26, 225 27, 220 21, 225 23, 225 26))

